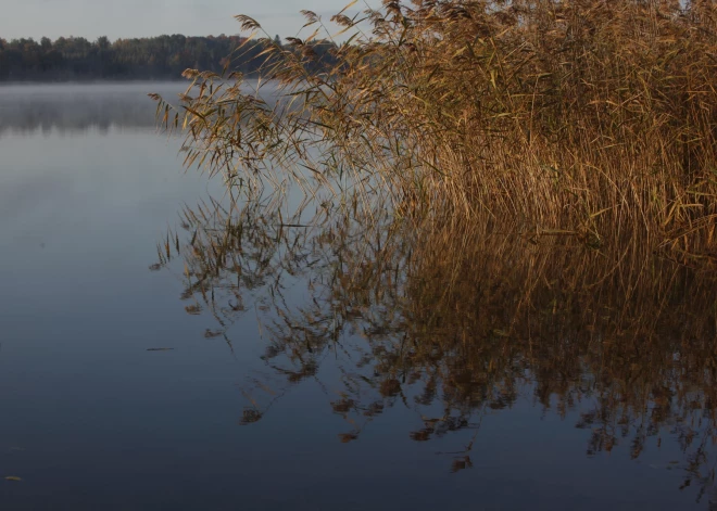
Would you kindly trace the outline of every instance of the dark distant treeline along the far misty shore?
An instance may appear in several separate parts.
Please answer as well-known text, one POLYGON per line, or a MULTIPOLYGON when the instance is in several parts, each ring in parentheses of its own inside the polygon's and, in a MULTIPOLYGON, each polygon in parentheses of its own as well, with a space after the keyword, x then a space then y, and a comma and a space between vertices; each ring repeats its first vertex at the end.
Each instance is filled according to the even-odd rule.
MULTIPOLYGON (((5 40, 0 38, 0 81, 173 79, 186 68, 221 73, 230 69, 255 74, 257 58, 268 39, 247 41, 240 36, 159 36, 141 39, 106 37, 89 41, 81 37, 47 37, 5 40), (243 47, 236 51, 238 47, 243 47)), ((280 44, 277 36, 273 42, 280 44)), ((328 58, 331 43, 314 48, 328 58)))

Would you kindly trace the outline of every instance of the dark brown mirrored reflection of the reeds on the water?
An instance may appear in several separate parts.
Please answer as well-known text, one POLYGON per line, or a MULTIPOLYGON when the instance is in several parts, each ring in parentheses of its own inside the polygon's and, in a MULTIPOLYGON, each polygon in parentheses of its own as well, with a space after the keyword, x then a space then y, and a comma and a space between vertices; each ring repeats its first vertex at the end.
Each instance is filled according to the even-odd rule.
MULTIPOLYGON (((187 310, 211 311, 227 342, 239 315, 272 318, 261 325, 272 371, 247 389, 244 423, 314 379, 330 354, 344 384, 330 406, 351 424, 342 442, 397 403, 423 418, 416 442, 460 430, 475 438, 487 411, 530 388, 563 418, 580 409, 589 455, 622 446, 638 458, 647 442, 676 437, 684 484, 709 487, 717 282, 708 267, 671 263, 634 240, 598 251, 569 237, 416 227, 360 209, 324 204, 306 222, 305 213, 287 218, 257 203, 204 204, 185 210, 186 241, 174 234, 161 246, 158 267, 186 264, 184 298, 197 301, 187 310), (285 299, 295 277, 311 296, 301 306, 285 299)), ((471 443, 454 453, 454 470, 470 465, 471 443)))

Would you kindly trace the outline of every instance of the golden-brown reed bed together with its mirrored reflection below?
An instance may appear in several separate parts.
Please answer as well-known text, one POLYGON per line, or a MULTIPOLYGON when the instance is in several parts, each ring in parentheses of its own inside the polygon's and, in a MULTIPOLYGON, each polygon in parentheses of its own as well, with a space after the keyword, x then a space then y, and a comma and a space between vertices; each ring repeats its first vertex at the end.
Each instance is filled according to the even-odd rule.
POLYGON ((401 403, 424 418, 416 442, 474 431, 531 388, 564 418, 581 411, 589 455, 625 445, 637 458, 670 437, 684 484, 708 488, 714 2, 348 12, 332 18, 350 37, 330 63, 312 51, 326 28, 311 12, 316 33, 267 48, 271 94, 187 71, 181 108, 155 97, 165 125, 187 130, 187 165, 254 197, 286 181, 339 193, 309 216, 259 201, 187 209, 190 241, 160 247, 158 267, 181 260, 187 311, 211 311, 212 334, 230 344, 252 302, 266 312, 274 375, 246 393, 243 422, 284 395, 277 382, 317 379, 332 350, 342 442, 401 403), (306 283, 304 306, 287 306, 288 281, 306 283))

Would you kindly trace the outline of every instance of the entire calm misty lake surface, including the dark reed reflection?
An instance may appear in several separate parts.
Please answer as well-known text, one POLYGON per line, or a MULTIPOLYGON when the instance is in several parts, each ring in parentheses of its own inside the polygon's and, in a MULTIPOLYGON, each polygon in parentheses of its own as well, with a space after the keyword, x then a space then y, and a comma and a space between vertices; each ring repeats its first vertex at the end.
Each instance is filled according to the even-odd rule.
POLYGON ((441 273, 416 280, 400 233, 326 205, 215 210, 219 180, 185 173, 154 129, 146 93, 181 88, 0 88, 0 509, 717 501, 699 279, 675 273, 661 303, 681 316, 632 344, 564 316, 532 324, 536 307, 532 334, 508 330, 513 281, 481 269, 443 310, 441 273))

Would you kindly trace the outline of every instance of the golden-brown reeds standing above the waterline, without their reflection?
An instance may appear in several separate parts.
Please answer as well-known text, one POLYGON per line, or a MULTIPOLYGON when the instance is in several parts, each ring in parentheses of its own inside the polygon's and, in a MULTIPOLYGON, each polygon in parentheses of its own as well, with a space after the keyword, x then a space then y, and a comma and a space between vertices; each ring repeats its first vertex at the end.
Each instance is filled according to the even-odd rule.
POLYGON ((164 125, 187 130, 186 164, 249 188, 349 179, 402 214, 713 259, 714 2, 385 0, 348 13, 331 18, 341 43, 309 11, 311 36, 265 39, 274 103, 229 67, 188 69, 178 110, 154 95, 164 125))

